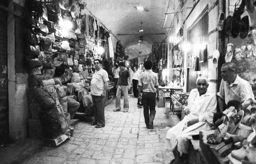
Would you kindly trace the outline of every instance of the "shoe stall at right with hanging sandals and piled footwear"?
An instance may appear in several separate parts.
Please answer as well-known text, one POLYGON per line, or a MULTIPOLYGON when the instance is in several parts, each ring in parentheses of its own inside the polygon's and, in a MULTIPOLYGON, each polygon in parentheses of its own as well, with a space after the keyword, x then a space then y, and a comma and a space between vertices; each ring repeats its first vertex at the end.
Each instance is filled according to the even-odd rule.
MULTIPOLYGON (((248 81, 256 95, 256 3, 253 0, 228 0, 226 14, 218 16, 218 31, 225 37, 223 62, 233 62, 239 77, 248 81)), ((221 53, 222 53, 221 52, 221 53)), ((213 63, 218 64, 219 52, 214 52, 213 63)), ((221 69, 221 66, 218 66, 221 69)), ((221 77, 219 77, 221 78, 221 77)), ((256 163, 256 104, 237 112, 229 109, 215 130, 200 132, 203 155, 211 163, 256 163)), ((224 111, 225 112, 225 111, 224 111)), ((215 122, 215 123, 216 123, 215 122)))

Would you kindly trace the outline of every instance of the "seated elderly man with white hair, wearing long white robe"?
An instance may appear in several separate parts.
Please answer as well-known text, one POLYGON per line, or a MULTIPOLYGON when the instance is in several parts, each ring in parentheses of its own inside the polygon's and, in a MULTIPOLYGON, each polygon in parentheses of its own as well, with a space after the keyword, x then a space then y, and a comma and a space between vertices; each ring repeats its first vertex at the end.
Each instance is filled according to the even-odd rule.
POLYGON ((187 137, 198 135, 199 131, 210 129, 212 119, 216 112, 216 96, 210 93, 207 78, 199 77, 196 80, 197 89, 192 89, 188 98, 189 113, 175 127, 168 130, 166 135, 166 150, 172 150, 175 160, 171 163, 180 164, 181 155, 187 154, 189 144, 187 137))

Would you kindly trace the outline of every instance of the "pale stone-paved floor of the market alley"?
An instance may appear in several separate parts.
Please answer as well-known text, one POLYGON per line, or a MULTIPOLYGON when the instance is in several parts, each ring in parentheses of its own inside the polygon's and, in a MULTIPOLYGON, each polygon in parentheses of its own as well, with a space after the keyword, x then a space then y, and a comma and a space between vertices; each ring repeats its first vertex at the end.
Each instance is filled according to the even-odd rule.
MULTIPOLYGON (((123 103, 123 99, 121 99, 123 103)), ((42 147, 22 164, 169 164, 173 155, 164 150, 167 117, 156 107, 154 129, 147 129, 143 108, 129 98, 128 112, 113 112, 115 100, 105 107, 106 125, 96 129, 79 122, 70 140, 56 148, 42 147)))

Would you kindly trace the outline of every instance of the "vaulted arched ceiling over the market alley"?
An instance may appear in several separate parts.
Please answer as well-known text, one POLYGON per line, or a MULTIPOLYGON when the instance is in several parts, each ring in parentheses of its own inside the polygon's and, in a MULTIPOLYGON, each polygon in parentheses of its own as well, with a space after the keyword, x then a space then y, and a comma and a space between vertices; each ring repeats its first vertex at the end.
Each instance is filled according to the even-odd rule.
MULTIPOLYGON (((148 55, 154 42, 165 40, 172 17, 165 21, 168 5, 171 0, 83 0, 86 8, 102 23, 112 35, 113 47, 121 41, 125 48, 125 55, 129 59, 148 55), (140 10, 142 9, 143 10, 140 10), (139 32, 143 29, 143 32, 139 32), (140 36, 143 42, 138 45, 140 36), (139 51, 142 51, 139 54, 139 51)), ((170 6, 170 5, 169 5, 170 6)))

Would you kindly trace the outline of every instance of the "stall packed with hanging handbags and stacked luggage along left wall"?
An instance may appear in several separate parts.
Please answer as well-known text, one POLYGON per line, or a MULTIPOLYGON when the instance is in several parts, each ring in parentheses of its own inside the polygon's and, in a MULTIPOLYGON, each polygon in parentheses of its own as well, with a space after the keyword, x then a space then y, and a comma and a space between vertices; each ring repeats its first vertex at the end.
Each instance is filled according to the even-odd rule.
POLYGON ((29 137, 45 138, 46 146, 55 147, 72 135, 73 117, 93 117, 93 60, 102 60, 111 75, 113 45, 105 27, 79 1, 29 0, 26 4, 29 137), (59 69, 64 74, 56 77, 59 69), (56 78, 62 85, 55 85, 56 78))

